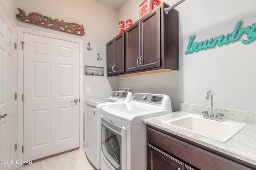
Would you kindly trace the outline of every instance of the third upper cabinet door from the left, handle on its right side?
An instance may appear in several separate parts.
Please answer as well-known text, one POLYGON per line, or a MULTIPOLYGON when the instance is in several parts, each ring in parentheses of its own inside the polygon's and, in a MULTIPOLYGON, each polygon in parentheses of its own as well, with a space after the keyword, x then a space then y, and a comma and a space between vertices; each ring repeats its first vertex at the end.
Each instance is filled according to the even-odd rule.
POLYGON ((126 71, 140 70, 140 22, 126 30, 126 71))

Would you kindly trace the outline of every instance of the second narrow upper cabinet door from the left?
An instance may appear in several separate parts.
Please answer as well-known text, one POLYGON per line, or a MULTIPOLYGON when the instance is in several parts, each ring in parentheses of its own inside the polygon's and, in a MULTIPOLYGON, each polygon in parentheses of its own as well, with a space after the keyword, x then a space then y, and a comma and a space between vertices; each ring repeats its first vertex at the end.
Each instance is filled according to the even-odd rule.
POLYGON ((114 74, 124 73, 124 32, 114 38, 114 74))

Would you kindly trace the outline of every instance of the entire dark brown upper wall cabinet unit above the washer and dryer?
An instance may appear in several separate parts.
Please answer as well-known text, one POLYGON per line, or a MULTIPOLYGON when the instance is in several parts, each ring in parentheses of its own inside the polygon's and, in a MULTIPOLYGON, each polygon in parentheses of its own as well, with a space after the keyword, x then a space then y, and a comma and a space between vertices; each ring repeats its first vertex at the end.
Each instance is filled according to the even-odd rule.
POLYGON ((178 70, 178 11, 165 14, 168 7, 160 4, 107 43, 107 76, 178 70))

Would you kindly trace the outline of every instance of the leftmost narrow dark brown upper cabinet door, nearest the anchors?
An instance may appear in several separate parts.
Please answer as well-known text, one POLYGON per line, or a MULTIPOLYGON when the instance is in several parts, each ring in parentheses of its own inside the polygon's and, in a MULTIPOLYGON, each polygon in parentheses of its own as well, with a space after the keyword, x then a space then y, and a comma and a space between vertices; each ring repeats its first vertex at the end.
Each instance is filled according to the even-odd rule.
POLYGON ((114 74, 114 41, 111 40, 107 43, 107 76, 114 74))

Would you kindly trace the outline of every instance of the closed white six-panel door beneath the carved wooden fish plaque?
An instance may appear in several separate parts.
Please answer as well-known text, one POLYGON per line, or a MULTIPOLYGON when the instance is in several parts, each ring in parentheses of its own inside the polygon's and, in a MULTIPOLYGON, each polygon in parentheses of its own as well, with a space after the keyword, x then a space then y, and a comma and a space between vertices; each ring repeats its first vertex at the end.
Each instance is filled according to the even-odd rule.
POLYGON ((24 160, 78 148, 79 44, 29 33, 23 41, 24 160))

